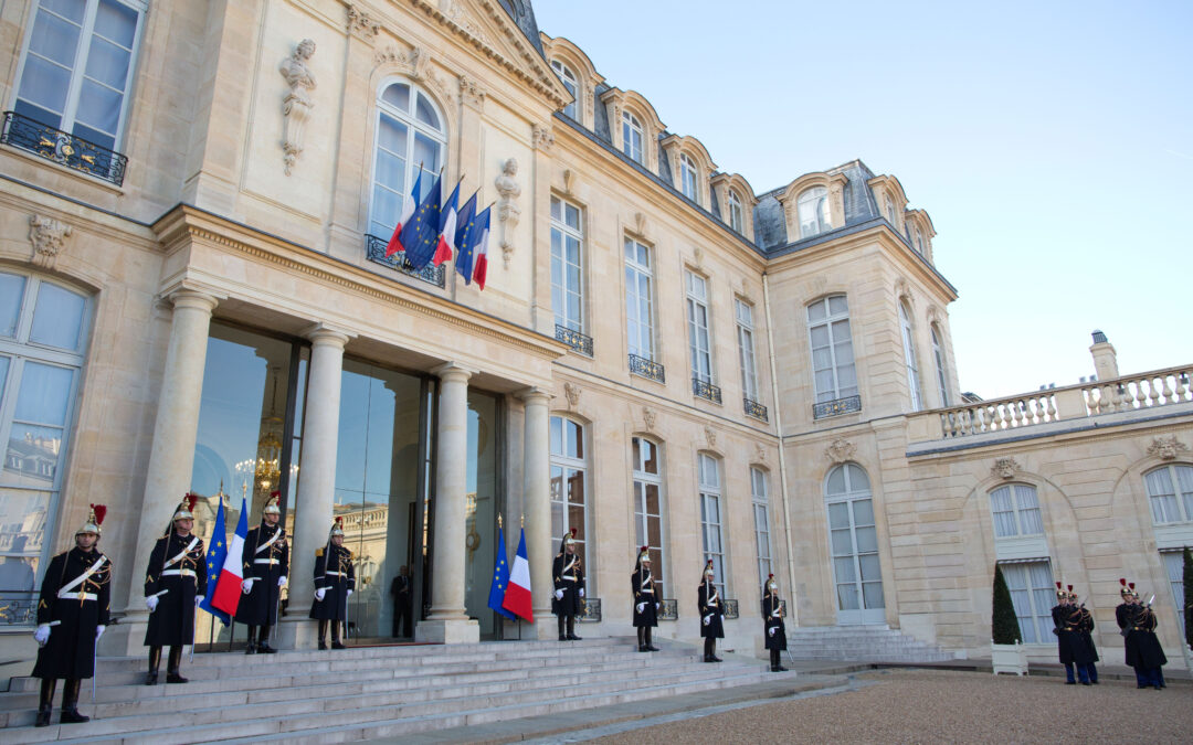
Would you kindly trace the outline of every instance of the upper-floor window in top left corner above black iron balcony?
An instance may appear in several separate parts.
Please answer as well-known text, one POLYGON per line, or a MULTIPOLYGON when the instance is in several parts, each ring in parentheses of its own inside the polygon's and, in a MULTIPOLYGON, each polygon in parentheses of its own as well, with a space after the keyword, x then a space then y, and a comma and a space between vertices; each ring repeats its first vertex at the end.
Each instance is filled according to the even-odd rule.
POLYGON ((116 149, 144 8, 137 0, 42 0, 13 110, 116 149))

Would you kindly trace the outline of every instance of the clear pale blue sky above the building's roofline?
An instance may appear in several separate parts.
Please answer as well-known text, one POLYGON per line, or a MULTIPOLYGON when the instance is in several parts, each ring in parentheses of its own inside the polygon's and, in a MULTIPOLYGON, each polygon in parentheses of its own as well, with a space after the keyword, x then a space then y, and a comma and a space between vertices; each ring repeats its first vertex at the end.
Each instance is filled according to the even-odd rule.
POLYGON ((1193 2, 533 7, 755 193, 897 176, 960 296, 963 391, 1076 384, 1094 329, 1123 374, 1193 362, 1193 2))

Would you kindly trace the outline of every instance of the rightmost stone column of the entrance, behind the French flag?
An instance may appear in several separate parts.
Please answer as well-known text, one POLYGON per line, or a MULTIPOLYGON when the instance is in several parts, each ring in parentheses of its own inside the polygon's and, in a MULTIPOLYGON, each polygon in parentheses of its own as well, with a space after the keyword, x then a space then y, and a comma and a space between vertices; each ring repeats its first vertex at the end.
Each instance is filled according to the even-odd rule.
POLYGON ((526 405, 523 446, 524 497, 526 510, 526 557, 530 561, 530 585, 533 595, 534 631, 539 639, 556 639, 558 629, 551 616, 555 560, 551 535, 551 461, 548 404, 551 397, 540 389, 518 395, 526 405))

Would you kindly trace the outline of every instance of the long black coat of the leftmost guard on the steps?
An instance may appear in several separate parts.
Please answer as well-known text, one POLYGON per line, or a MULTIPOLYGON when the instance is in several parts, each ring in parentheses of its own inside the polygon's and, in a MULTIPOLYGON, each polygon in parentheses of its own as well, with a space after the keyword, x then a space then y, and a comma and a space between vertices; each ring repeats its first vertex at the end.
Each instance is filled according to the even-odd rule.
POLYGON ((37 622, 52 623, 37 651, 33 677, 89 678, 95 673, 95 627, 107 626, 112 564, 99 551, 72 548, 50 559, 37 622))

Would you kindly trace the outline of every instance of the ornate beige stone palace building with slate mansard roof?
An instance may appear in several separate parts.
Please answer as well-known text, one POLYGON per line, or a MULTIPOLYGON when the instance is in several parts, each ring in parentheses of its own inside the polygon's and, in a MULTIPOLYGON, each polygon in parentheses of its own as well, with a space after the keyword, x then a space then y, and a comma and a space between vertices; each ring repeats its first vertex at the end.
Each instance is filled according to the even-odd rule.
POLYGON ((730 648, 773 572, 792 625, 983 654, 1003 563, 1039 654, 1053 581, 1109 648, 1129 576, 1181 658, 1191 368, 1121 377, 1100 340, 1095 383, 964 396, 957 292, 896 178, 755 193, 524 0, 14 0, 0 38, 0 676, 27 672, 38 572, 88 503, 122 617, 101 652, 137 652, 188 491, 206 533, 282 492, 283 645, 310 644, 338 515, 358 637, 388 637, 402 565, 421 639, 551 637, 576 528, 588 634, 629 633, 649 545, 675 639, 711 558, 730 648), (494 204, 483 292, 384 255, 439 172, 494 204), (499 516, 533 629, 486 606, 499 516))

